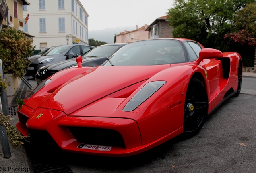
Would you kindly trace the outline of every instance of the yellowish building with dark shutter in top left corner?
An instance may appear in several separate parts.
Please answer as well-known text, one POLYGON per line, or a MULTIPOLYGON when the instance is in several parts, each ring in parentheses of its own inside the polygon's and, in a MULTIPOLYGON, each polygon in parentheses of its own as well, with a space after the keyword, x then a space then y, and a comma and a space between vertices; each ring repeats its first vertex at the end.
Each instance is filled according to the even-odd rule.
POLYGON ((6 0, 9 12, 8 19, 3 21, 4 25, 24 31, 23 5, 29 6, 27 0, 6 0))

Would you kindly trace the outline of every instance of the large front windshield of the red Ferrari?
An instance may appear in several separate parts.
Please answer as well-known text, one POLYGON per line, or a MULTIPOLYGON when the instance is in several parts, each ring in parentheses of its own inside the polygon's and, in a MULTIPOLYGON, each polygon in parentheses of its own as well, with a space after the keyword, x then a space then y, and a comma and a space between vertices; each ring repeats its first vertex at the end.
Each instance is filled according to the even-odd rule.
POLYGON ((182 43, 178 40, 143 40, 118 50, 102 66, 160 65, 186 62, 182 43))

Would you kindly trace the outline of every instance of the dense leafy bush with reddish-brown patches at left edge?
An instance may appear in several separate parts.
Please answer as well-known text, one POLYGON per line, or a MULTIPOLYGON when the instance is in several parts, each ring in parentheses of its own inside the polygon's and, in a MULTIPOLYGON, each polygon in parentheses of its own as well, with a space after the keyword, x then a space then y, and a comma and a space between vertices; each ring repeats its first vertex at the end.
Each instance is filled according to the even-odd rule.
POLYGON ((11 27, 3 27, 0 31, 0 59, 4 72, 22 78, 29 66, 29 59, 34 51, 32 40, 25 33, 11 27))

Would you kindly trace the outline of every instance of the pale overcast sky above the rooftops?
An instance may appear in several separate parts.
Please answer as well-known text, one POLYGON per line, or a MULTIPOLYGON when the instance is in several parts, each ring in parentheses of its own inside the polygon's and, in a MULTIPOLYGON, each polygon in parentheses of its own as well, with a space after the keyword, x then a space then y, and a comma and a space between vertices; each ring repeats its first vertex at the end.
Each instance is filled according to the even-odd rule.
POLYGON ((89 14, 88 30, 119 26, 142 27, 165 16, 173 0, 80 0, 89 14))

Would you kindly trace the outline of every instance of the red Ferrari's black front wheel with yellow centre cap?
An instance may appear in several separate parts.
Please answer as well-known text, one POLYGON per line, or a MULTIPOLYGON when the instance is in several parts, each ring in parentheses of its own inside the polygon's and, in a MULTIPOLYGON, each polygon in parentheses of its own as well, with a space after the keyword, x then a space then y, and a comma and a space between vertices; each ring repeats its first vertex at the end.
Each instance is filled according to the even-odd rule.
POLYGON ((208 97, 204 84, 197 78, 191 78, 184 105, 185 137, 193 137, 204 125, 208 111, 208 97))

